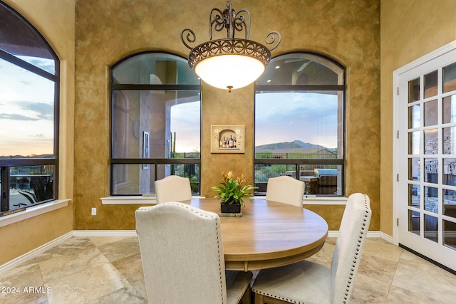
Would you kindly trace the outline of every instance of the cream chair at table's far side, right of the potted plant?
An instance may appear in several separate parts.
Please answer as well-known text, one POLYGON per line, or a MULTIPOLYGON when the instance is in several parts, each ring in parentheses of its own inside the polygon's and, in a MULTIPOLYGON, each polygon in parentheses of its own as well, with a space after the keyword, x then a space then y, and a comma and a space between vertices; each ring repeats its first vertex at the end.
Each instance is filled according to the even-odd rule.
POLYGON ((266 199, 302 207, 304 182, 293 177, 270 177, 266 188, 266 199))

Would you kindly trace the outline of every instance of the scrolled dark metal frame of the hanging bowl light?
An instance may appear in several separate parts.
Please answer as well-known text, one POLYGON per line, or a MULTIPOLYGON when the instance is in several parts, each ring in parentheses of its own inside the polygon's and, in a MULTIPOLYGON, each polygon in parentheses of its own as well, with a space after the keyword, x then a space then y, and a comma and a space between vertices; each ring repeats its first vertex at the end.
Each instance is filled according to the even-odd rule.
POLYGON ((246 9, 234 11, 231 1, 227 1, 227 9, 224 11, 216 8, 210 11, 209 41, 192 48, 188 43, 194 43, 196 35, 190 28, 182 30, 180 38, 182 43, 191 50, 188 56, 188 64, 191 68, 195 68, 204 59, 221 55, 250 56, 259 60, 266 67, 271 60, 271 51, 281 42, 281 35, 278 31, 271 31, 266 34, 264 41, 271 48, 250 40, 250 13, 246 9), (227 28, 227 38, 212 40, 212 28, 215 31, 222 31, 227 28), (245 38, 235 38, 237 31, 245 31, 245 38))

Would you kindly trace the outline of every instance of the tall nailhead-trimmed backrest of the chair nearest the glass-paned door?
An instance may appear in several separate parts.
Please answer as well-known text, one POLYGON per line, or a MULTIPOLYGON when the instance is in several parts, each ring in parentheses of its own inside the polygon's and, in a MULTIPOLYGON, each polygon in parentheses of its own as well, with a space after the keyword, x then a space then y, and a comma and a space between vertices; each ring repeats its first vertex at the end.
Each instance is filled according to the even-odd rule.
POLYGON ((371 201, 366 194, 348 197, 331 262, 331 303, 350 300, 371 216, 371 201))

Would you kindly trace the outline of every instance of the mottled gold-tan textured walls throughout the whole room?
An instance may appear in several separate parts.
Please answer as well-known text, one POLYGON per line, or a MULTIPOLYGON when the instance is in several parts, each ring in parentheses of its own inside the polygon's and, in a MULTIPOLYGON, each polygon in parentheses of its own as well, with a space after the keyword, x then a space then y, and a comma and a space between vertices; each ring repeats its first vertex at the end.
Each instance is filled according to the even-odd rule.
MULTIPOLYGON (((107 66, 127 54, 142 50, 171 51, 186 56, 187 49, 180 43, 181 29, 192 28, 200 41, 207 39, 209 10, 214 6, 222 9, 224 1, 172 1, 171 5, 165 0, 153 3, 141 0, 78 0, 78 93, 77 117, 73 121, 74 1, 5 2, 31 21, 63 60, 61 159, 64 165, 61 167, 60 194, 61 198, 73 194, 75 125, 78 132, 74 149, 78 172, 74 182, 77 204, 75 228, 134 229, 133 213, 137 206, 101 206, 99 200, 108 195, 107 66), (99 216, 90 216, 93 206, 98 207, 99 216)), ((273 55, 313 51, 347 67, 346 192, 365 192, 371 196, 374 211, 371 229, 380 227, 385 234, 392 235, 393 70, 455 40, 454 1, 440 0, 436 5, 425 0, 382 0, 381 31, 378 1, 295 0, 285 4, 283 1, 249 0, 233 1, 233 5, 234 9, 245 8, 251 12, 253 39, 262 41, 264 34, 270 30, 281 32, 283 41, 273 55)), ((244 173, 252 181, 252 172, 245 168, 252 167, 253 147, 246 147, 245 154, 230 156, 227 162, 224 162, 224 157, 212 157, 209 141, 205 138, 210 124, 218 124, 220 120, 211 115, 210 109, 214 107, 214 100, 249 103, 254 93, 252 87, 247 87, 227 95, 206 85, 203 85, 202 91, 202 193, 212 196, 209 187, 217 183, 222 170, 233 169, 236 173, 244 173)), ((242 117, 233 122, 246 125, 246 135, 253 136, 253 110, 249 105, 247 109, 242 117)), ((232 123, 231 120, 229 123, 232 123)), ((9 253, 5 255, 4 250, 1 252, 0 263, 70 231, 71 208, 70 204, 61 211, 1 228, 0 233, 8 238, 1 240, 0 246, 9 248, 9 253), (36 234, 37 226, 40 227, 39 234, 36 234), (19 234, 21 242, 17 241, 19 234), (11 248, 15 249, 11 251, 11 248)), ((338 228, 341 208, 311 208, 325 216, 330 229, 338 228)))

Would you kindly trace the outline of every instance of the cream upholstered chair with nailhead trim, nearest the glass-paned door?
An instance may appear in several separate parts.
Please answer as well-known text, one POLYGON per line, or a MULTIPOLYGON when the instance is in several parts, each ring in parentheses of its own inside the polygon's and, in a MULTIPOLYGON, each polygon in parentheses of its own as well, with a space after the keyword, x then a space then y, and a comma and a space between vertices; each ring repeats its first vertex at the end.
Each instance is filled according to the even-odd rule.
POLYGON ((311 261, 261 270, 252 286, 255 303, 348 303, 372 211, 366 194, 348 197, 331 268, 311 261))

